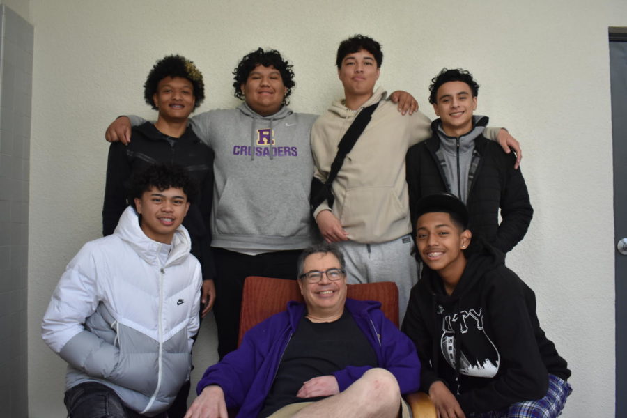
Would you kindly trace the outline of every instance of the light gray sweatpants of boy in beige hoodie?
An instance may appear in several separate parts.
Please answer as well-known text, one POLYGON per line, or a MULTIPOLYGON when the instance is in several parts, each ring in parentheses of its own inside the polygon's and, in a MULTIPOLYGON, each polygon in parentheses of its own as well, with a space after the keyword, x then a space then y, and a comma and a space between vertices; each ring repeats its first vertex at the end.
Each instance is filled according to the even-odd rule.
POLYGON ((418 268, 411 255, 410 235, 380 244, 355 241, 337 243, 346 258, 348 284, 394 281, 398 286, 398 319, 403 323, 412 286, 418 281, 418 268))

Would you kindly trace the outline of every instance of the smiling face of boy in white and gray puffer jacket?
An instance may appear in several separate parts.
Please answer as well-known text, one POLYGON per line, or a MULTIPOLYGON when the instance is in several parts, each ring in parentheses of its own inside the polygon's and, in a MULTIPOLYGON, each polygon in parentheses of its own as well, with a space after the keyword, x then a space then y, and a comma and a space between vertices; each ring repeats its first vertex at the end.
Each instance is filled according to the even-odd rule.
POLYGON ((141 215, 141 231, 151 240, 169 244, 187 215, 189 202, 183 189, 151 187, 141 199, 135 198, 135 208, 141 215))

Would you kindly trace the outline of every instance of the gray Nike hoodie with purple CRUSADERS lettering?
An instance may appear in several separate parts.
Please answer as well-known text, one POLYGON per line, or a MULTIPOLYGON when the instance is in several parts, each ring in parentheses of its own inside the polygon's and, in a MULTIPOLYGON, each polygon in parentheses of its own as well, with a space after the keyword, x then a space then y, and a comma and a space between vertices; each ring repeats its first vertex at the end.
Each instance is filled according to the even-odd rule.
POLYGON ((242 103, 190 119, 215 152, 212 247, 263 252, 311 245, 309 136, 316 118, 288 107, 261 116, 242 103))

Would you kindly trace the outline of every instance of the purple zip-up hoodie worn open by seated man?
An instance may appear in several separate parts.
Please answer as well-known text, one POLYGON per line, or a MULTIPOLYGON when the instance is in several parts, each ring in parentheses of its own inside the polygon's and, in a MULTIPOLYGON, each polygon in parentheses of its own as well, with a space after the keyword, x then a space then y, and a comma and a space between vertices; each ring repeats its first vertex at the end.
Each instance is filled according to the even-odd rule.
MULTIPOLYGON (((394 375, 401 394, 415 392, 420 386, 420 361, 414 343, 385 318, 373 301, 347 299, 345 307, 355 318, 374 349, 378 365, 394 375)), ((211 366, 196 387, 200 394, 208 385, 219 385, 224 391, 227 408, 240 408, 238 417, 256 417, 263 407, 281 357, 302 318, 305 305, 288 302, 287 310, 273 315, 251 328, 242 345, 211 366)), ((333 373, 340 392, 371 369, 353 367, 333 373)))

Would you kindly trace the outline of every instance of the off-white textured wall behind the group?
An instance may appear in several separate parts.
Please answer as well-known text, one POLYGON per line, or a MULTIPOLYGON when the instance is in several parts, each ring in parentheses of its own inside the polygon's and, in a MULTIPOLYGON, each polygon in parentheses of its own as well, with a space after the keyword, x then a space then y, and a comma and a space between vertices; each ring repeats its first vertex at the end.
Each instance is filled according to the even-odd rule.
MULTIPOLYGON (((541 322, 573 369, 575 392, 564 415, 613 416, 607 27, 627 26, 627 2, 32 0, 29 6, 30 417, 65 416, 64 364, 40 340, 40 318, 65 264, 100 236, 103 132, 118 114, 153 115, 141 86, 155 60, 176 52, 198 64, 208 96, 202 111, 235 106, 231 71, 238 59, 258 46, 274 47, 295 64, 293 109, 320 113, 341 94, 334 53, 354 33, 382 43, 380 83, 414 93, 428 116, 429 79, 443 66, 471 70, 482 85, 479 112, 522 141, 536 212, 509 265, 536 291, 541 322)), ((194 383, 215 359, 214 339, 207 328, 196 344, 194 383)))

